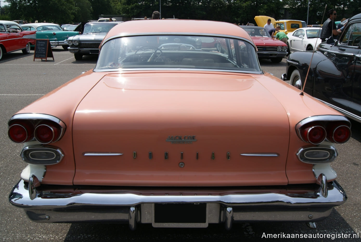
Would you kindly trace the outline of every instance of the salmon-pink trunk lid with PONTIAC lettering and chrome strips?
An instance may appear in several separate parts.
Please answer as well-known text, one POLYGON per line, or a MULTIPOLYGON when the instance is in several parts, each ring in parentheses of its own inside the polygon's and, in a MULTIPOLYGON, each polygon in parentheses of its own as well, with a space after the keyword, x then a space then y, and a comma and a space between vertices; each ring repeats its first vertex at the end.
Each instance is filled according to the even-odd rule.
POLYGON ((251 75, 108 74, 75 111, 74 184, 287 184, 289 139, 286 110, 251 75))

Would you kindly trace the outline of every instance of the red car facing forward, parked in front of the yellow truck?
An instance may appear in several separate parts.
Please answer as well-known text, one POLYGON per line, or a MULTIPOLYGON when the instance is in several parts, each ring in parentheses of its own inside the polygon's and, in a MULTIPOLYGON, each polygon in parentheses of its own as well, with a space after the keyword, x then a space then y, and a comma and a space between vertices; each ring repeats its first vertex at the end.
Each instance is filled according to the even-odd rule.
POLYGON ((282 58, 287 55, 287 44, 278 39, 271 38, 264 27, 247 25, 240 27, 251 36, 257 47, 259 59, 270 59, 272 62, 279 63, 282 61, 282 58))

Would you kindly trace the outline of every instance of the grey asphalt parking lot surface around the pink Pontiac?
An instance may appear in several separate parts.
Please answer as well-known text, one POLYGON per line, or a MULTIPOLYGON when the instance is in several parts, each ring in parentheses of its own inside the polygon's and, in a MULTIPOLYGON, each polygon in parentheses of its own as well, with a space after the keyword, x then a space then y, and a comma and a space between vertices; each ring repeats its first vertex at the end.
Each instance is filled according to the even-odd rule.
MULTIPOLYGON (((348 200, 336 207, 326 220, 317 222, 316 229, 305 223, 242 223, 226 232, 222 225, 206 229, 161 229, 140 225, 132 232, 127 224, 40 224, 30 221, 25 213, 8 201, 9 192, 26 166, 19 156, 21 144, 12 143, 7 135, 9 118, 22 107, 51 92, 72 78, 95 67, 96 56, 74 55, 61 47, 52 49, 54 60, 35 59, 34 51, 4 55, 0 60, 0 240, 2 241, 261 241, 266 234, 284 236, 312 235, 310 238, 289 238, 287 241, 361 241, 361 124, 352 122, 352 138, 337 145, 339 157, 332 164, 337 181, 348 200), (329 236, 329 238, 327 238, 329 236), (342 238, 334 238, 342 236, 342 238), (350 236, 350 237, 349 237, 350 236), (347 238, 345 238, 347 237, 347 238), (353 238, 356 237, 356 238, 353 238)), ((280 77, 286 61, 260 61, 262 69, 280 77)), ((66 99, 66 97, 64 97, 66 99)), ((59 100, 61 102, 62 100, 59 100)))

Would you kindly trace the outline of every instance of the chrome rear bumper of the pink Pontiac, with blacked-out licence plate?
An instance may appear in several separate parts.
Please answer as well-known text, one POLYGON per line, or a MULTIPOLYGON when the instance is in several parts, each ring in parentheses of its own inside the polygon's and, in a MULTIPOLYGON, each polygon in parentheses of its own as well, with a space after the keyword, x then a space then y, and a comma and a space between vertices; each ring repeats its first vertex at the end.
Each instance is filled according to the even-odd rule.
POLYGON ((315 222, 347 196, 336 182, 259 187, 109 187, 40 185, 20 180, 9 195, 35 222, 117 222, 205 228, 210 223, 315 222), (322 187, 324 186, 324 187, 322 187), (29 196, 30 188, 30 197, 29 196), (325 193, 325 190, 327 191, 325 193))

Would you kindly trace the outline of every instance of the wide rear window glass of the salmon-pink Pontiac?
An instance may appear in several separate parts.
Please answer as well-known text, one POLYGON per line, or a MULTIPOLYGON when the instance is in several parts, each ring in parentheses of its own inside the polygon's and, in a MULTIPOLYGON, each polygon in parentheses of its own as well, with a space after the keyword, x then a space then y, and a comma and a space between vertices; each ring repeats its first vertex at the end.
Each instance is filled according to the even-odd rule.
POLYGON ((95 71, 184 68, 261 72, 257 52, 242 39, 193 35, 144 35, 111 39, 95 71))

